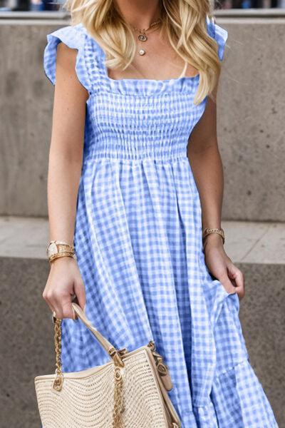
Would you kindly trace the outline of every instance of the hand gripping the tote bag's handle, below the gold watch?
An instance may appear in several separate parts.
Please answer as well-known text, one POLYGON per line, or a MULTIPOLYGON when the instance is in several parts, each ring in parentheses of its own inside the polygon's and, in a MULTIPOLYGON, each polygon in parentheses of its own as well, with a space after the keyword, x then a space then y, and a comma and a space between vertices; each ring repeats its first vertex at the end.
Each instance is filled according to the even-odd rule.
POLYGON ((43 290, 43 299, 56 312, 57 318, 73 318, 76 314, 71 305, 76 295, 78 305, 84 310, 86 292, 81 273, 76 260, 71 257, 62 257, 53 260, 48 275, 46 287, 43 290))

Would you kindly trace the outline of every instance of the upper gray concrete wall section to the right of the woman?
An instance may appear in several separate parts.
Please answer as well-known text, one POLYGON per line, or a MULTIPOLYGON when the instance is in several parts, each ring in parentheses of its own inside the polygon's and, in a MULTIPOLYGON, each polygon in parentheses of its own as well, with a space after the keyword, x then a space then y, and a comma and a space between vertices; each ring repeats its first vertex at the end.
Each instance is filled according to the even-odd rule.
POLYGON ((223 217, 285 220, 285 19, 220 20, 229 31, 219 91, 223 217))

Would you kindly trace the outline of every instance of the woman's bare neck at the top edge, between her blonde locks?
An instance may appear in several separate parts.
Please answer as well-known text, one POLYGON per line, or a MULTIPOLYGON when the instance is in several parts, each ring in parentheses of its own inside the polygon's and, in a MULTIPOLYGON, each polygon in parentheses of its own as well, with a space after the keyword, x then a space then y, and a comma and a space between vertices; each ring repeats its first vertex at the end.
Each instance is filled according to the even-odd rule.
POLYGON ((113 0, 128 24, 147 29, 160 18, 160 0, 113 0))

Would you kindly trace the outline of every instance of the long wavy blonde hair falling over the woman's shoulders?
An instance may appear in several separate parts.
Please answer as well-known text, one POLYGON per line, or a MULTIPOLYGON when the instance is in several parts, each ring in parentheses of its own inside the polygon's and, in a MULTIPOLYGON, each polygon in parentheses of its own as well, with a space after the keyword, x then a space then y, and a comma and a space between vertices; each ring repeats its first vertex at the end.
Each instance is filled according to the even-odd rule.
MULTIPOLYGON (((125 21, 115 0, 66 0, 71 24, 83 24, 106 53, 105 66, 128 68, 136 53, 132 27, 125 21)), ((161 0, 161 31, 185 61, 180 77, 190 63, 199 72, 195 104, 211 95, 220 73, 217 42, 207 33, 206 18, 212 19, 209 0, 161 0)))

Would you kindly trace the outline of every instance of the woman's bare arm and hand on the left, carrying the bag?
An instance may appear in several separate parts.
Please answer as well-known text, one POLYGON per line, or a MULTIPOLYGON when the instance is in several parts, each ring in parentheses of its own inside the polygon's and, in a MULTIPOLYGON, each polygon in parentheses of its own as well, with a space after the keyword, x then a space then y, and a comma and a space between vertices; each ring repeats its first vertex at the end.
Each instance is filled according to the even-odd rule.
MULTIPOLYGON (((78 185, 83 161, 88 91, 76 75, 76 49, 58 44, 53 124, 48 158, 48 220, 50 240, 73 245, 78 185)), ((73 295, 83 308, 86 294, 76 260, 53 260, 43 299, 58 318, 74 318, 73 295)))

